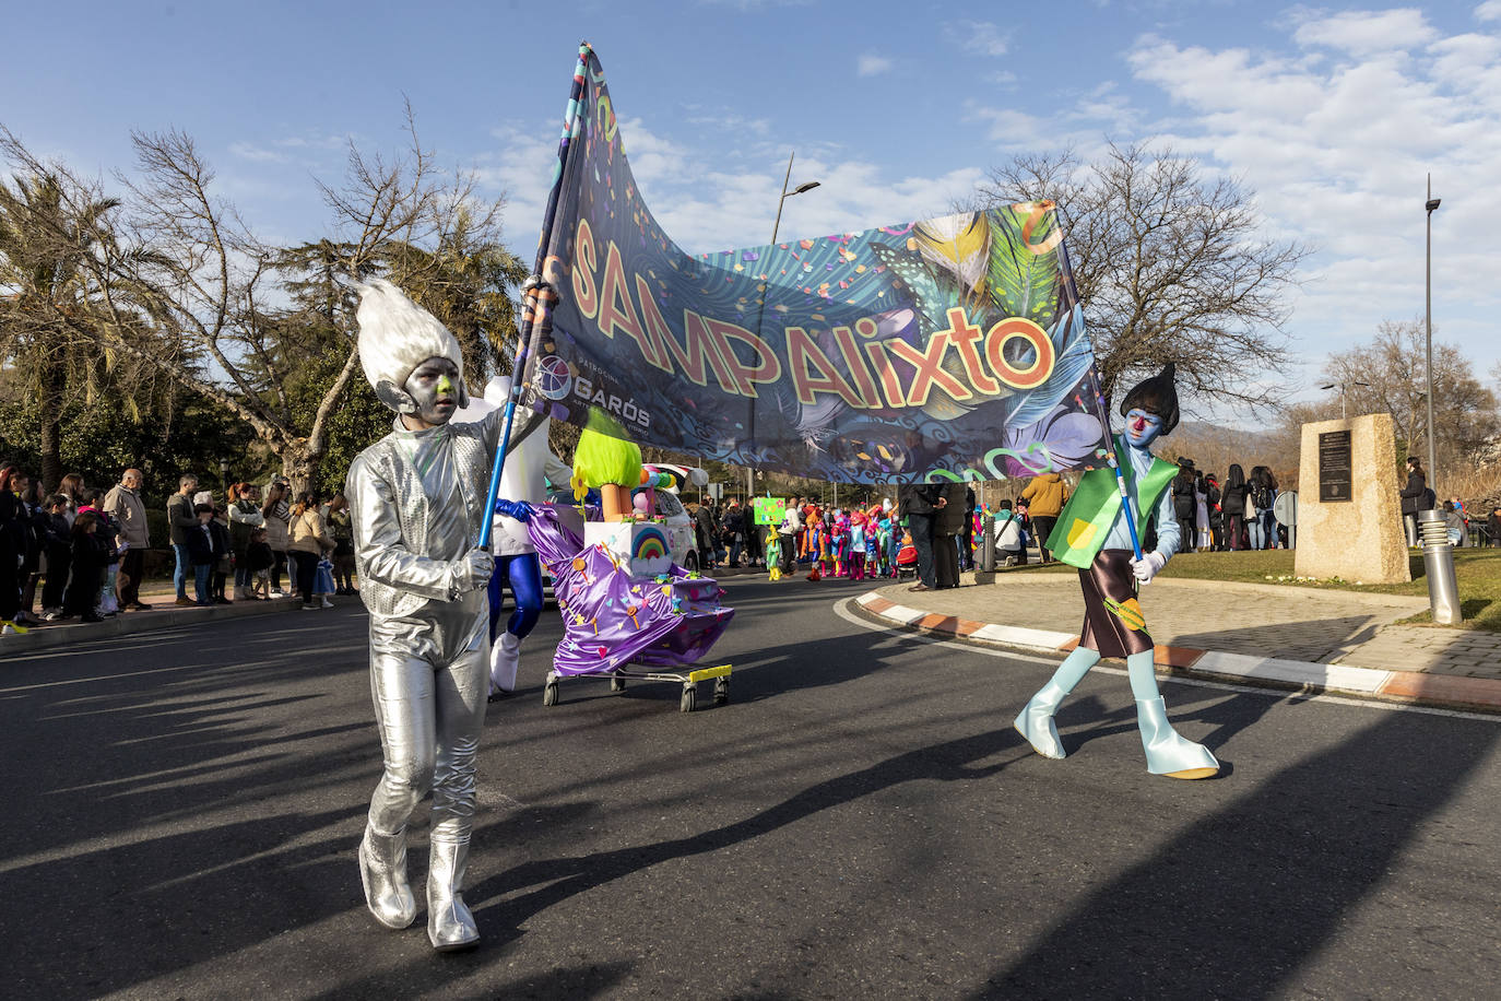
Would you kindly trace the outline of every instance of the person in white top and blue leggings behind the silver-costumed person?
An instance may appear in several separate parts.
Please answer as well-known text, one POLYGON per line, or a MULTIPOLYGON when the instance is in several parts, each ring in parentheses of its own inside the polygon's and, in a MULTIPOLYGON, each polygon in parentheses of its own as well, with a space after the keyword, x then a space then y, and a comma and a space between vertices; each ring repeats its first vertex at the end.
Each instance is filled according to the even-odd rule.
MULTIPOLYGON (((468 407, 453 416, 453 422, 485 420, 489 413, 506 405, 509 395, 510 380, 497 375, 485 386, 485 398, 471 399, 468 407)), ((542 615, 542 564, 537 561, 531 536, 527 534, 528 504, 546 501, 548 482, 561 489, 573 476, 572 467, 558 459, 548 446, 551 419, 542 414, 524 417, 522 413, 518 411, 512 425, 506 465, 500 471, 500 497, 507 500, 495 506, 495 525, 491 533, 491 552, 495 555, 495 572, 489 578, 491 701, 515 690, 521 641, 531 633, 542 615), (515 608, 506 618, 506 627, 501 629, 500 608, 507 587, 515 608)))

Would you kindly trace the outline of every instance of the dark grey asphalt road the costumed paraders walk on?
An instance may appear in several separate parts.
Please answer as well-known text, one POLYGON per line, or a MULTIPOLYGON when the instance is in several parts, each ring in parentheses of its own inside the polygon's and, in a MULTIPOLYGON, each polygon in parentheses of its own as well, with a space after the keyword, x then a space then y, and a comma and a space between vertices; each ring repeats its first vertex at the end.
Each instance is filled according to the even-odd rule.
POLYGON ((1501 720, 1168 683, 1228 764, 1177 782, 1096 672, 1046 761, 1010 719, 1051 663, 874 630, 844 582, 728 590, 732 699, 686 716, 545 708, 543 618, 480 752, 485 939, 447 956, 360 896, 360 609, 0 660, 0 992, 1495 996, 1501 720))

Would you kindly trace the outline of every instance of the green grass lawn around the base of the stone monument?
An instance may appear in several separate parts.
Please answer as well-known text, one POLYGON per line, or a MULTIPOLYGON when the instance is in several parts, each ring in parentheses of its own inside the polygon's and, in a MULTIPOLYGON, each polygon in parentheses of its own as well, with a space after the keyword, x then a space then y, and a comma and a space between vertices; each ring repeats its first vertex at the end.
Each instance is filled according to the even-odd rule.
MULTIPOLYGON (((1282 587, 1315 587, 1322 590, 1367 591, 1375 594, 1411 594, 1427 597, 1423 576, 1423 555, 1411 555, 1409 584, 1363 584, 1354 581, 1298 581, 1292 570, 1292 552, 1267 549, 1261 552, 1183 552, 1163 569, 1165 578, 1199 581, 1240 581, 1244 584, 1277 584, 1282 587), (1285 576, 1286 581, 1276 578, 1285 576), (1267 578, 1271 578, 1270 581, 1267 578)), ((1073 573, 1073 567, 1015 567, 1010 573, 1073 573)), ((1501 632, 1501 549, 1454 549, 1454 578, 1459 581, 1459 605, 1465 621, 1454 629, 1501 632)), ((1427 612, 1403 621, 1430 623, 1427 612)))

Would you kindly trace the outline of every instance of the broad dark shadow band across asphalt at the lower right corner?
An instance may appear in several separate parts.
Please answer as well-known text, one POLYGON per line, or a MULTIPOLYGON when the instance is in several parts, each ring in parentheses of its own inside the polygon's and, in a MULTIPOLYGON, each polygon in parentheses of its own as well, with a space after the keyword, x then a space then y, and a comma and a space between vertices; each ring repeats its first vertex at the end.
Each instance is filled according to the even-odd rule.
POLYGON ((1382 713, 1354 738, 1267 777, 1100 887, 977 996, 1295 993, 1300 966, 1381 888, 1501 734, 1492 723, 1451 722, 1435 728, 1382 713), (1342 822, 1309 822, 1289 839, 1298 831, 1289 818, 1337 815, 1331 795, 1352 804, 1342 822))

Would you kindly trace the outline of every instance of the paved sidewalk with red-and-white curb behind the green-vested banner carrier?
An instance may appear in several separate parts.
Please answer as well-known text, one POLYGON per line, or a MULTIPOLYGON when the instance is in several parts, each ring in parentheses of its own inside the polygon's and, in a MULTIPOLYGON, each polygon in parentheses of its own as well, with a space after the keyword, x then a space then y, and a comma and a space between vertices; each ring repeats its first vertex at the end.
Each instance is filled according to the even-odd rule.
MULTIPOLYGON (((857 602, 883 623, 968 642, 1052 653, 1078 645, 1075 573, 962 579, 917 593, 890 584, 857 602)), ((1394 624, 1426 611, 1423 597, 1157 579, 1141 605, 1169 674, 1501 711, 1501 635, 1394 624)))

